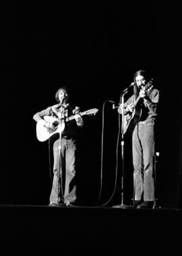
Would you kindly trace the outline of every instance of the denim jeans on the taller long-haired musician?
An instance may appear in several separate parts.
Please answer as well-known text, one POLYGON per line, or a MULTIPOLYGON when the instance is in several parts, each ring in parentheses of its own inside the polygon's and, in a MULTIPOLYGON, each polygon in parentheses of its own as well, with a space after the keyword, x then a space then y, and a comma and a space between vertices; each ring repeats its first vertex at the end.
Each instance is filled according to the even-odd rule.
POLYGON ((135 200, 154 201, 154 120, 138 122, 133 130, 133 186, 135 200))

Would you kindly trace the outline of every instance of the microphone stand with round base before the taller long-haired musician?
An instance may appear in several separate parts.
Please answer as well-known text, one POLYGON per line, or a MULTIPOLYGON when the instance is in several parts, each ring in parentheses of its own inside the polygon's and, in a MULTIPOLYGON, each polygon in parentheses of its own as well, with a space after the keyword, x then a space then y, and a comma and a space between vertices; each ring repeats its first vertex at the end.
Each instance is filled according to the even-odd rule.
POLYGON ((123 94, 121 96, 121 116, 122 116, 122 120, 121 120, 121 163, 122 163, 122 171, 121 171, 121 204, 120 205, 113 205, 114 208, 122 208, 122 209, 127 209, 130 208, 129 205, 124 205, 123 201, 124 201, 124 170, 125 170, 125 161, 124 161, 124 146, 125 146, 125 141, 124 141, 124 127, 123 127, 123 122, 124 122, 124 95, 127 93, 128 91, 125 90, 123 91, 123 94))

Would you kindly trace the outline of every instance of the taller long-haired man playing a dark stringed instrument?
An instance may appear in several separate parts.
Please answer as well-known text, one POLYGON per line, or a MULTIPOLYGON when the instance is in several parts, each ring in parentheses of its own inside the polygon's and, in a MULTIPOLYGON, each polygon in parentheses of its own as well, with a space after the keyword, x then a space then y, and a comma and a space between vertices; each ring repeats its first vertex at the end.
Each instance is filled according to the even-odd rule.
POLYGON ((132 134, 133 187, 135 200, 133 207, 152 208, 154 193, 155 137, 154 123, 159 91, 153 88, 152 81, 146 81, 144 70, 135 72, 133 95, 119 113, 124 113, 124 133, 132 134))

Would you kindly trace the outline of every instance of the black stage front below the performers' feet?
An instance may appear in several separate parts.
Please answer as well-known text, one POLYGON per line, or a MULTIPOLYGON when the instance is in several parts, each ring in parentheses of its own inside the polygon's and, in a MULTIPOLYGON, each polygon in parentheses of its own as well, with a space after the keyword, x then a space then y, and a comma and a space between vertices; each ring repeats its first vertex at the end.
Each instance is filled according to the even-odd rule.
POLYGON ((1 255, 181 255, 182 209, 0 205, 1 255))

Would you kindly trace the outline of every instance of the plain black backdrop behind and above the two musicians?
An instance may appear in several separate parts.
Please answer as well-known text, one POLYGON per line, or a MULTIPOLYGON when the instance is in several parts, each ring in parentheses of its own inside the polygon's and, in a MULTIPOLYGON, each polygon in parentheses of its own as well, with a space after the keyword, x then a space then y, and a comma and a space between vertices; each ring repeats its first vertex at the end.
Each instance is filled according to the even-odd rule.
MULTIPOLYGON (((123 89, 133 82, 133 74, 144 69, 160 90, 157 198, 163 207, 181 207, 179 6, 15 1, 5 7, 4 14, 0 203, 49 203, 49 147, 36 139, 32 116, 55 104, 55 92, 62 85, 69 88, 71 102, 82 111, 99 109, 96 116, 85 116, 80 136, 80 203, 96 205, 101 174, 99 204, 110 198, 109 205, 120 203, 118 115, 117 109, 104 101, 119 102, 123 89)), ((126 203, 132 198, 130 146, 126 137, 126 203)))

